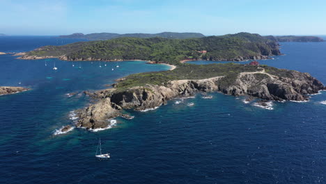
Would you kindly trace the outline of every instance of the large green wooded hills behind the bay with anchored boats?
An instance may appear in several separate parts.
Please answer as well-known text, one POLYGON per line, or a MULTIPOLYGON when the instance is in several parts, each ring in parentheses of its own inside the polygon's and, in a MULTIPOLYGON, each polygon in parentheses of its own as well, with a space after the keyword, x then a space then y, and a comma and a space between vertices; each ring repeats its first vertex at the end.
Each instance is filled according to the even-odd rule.
POLYGON ((204 38, 116 38, 113 40, 45 46, 28 52, 31 56, 66 56, 68 60, 148 60, 180 64, 183 59, 233 60, 279 55, 276 42, 251 33, 204 38), (199 51, 207 51, 201 53, 199 51))

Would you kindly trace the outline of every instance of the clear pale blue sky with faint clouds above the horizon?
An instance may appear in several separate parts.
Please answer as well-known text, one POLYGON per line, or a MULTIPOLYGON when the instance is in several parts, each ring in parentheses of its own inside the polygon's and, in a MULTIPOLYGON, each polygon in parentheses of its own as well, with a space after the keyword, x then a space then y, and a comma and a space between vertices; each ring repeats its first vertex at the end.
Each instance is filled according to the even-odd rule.
POLYGON ((321 0, 0 0, 0 33, 200 32, 325 35, 321 0))

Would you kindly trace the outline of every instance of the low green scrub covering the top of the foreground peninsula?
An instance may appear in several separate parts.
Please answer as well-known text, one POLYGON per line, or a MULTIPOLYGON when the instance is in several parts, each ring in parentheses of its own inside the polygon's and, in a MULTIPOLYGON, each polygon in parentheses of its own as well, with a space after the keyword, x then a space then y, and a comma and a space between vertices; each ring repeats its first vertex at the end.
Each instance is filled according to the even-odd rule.
POLYGON ((123 81, 118 82, 116 87, 118 90, 125 90, 132 86, 145 86, 146 84, 156 84, 162 86, 171 80, 208 79, 219 76, 226 76, 222 82, 225 86, 228 86, 229 84, 235 82, 235 79, 238 77, 240 72, 255 71, 261 71, 261 69, 259 69, 258 66, 235 63, 209 65, 183 64, 183 66, 180 66, 175 70, 144 72, 129 75, 125 77, 123 81))

